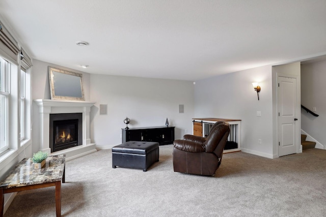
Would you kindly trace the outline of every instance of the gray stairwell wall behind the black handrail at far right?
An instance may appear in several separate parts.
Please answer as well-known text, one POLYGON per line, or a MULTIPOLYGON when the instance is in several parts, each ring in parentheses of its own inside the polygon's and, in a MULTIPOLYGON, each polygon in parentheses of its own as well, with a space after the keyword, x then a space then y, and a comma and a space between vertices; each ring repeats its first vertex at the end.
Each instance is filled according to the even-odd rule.
POLYGON ((318 117, 301 111, 301 128, 326 146, 326 61, 319 61, 301 66, 301 104, 311 111, 316 107, 318 117))

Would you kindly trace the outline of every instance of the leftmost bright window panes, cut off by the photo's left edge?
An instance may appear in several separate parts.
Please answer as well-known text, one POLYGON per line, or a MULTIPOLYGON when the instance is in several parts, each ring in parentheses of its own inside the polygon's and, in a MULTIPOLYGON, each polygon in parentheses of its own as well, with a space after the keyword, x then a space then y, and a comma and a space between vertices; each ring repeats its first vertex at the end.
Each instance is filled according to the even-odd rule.
POLYGON ((11 64, 0 57, 0 153, 9 148, 9 71, 11 64))

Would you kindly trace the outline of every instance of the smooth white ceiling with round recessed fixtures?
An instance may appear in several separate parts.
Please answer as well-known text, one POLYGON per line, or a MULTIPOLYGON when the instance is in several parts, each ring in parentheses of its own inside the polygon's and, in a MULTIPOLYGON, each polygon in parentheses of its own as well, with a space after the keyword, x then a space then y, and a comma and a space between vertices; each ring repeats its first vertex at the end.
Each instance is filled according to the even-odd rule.
POLYGON ((326 54, 325 11, 325 0, 0 1, 0 19, 34 59, 194 81, 326 54))

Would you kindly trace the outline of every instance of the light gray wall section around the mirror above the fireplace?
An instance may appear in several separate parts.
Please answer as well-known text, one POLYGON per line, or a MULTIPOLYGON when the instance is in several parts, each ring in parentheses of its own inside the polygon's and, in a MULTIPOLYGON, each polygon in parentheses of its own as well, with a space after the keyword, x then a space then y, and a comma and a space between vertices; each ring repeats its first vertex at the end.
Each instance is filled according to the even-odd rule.
MULTIPOLYGON (((33 59, 33 72, 32 72, 32 99, 51 99, 50 84, 48 75, 48 66, 67 70, 70 72, 82 73, 84 81, 85 100, 90 101, 90 74, 83 73, 77 70, 65 68, 55 64, 46 63, 37 59, 33 59)), ((40 119, 38 106, 33 103, 33 153, 40 150, 39 132, 40 132, 40 119)))

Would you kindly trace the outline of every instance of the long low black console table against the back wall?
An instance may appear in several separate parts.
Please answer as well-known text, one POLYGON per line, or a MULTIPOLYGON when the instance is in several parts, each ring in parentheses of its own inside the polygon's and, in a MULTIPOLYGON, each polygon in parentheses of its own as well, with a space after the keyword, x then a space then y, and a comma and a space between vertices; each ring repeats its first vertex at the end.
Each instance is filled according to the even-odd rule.
POLYGON ((158 142, 159 145, 173 144, 174 128, 169 127, 147 127, 147 128, 122 128, 122 143, 127 141, 158 142))

